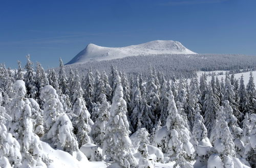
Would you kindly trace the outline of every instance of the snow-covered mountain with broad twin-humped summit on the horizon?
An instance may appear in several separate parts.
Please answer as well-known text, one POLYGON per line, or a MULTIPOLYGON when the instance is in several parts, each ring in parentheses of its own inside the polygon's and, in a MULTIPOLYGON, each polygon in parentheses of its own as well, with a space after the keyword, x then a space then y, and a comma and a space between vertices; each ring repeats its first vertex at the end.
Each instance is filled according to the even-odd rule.
POLYGON ((88 44, 67 64, 85 63, 89 61, 113 60, 129 56, 152 54, 196 54, 178 41, 156 40, 126 47, 102 47, 88 44))

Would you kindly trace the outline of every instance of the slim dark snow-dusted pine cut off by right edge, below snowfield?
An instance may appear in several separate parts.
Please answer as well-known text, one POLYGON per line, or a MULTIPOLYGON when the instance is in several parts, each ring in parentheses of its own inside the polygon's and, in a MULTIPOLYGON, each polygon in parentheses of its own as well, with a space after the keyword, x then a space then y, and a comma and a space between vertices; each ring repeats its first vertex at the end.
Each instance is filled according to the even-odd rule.
POLYGON ((248 108, 250 110, 250 113, 256 113, 256 90, 252 72, 250 72, 250 78, 246 86, 246 91, 248 96, 248 108))

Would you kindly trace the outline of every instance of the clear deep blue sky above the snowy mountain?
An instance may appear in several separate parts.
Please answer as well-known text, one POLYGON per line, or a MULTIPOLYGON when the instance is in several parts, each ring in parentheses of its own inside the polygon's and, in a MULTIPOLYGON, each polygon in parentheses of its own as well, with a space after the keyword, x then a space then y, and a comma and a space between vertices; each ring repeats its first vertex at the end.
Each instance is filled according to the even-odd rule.
POLYGON ((198 53, 256 55, 255 0, 4 1, 0 58, 26 54, 45 68, 70 61, 88 43, 120 47, 176 40, 198 53))

